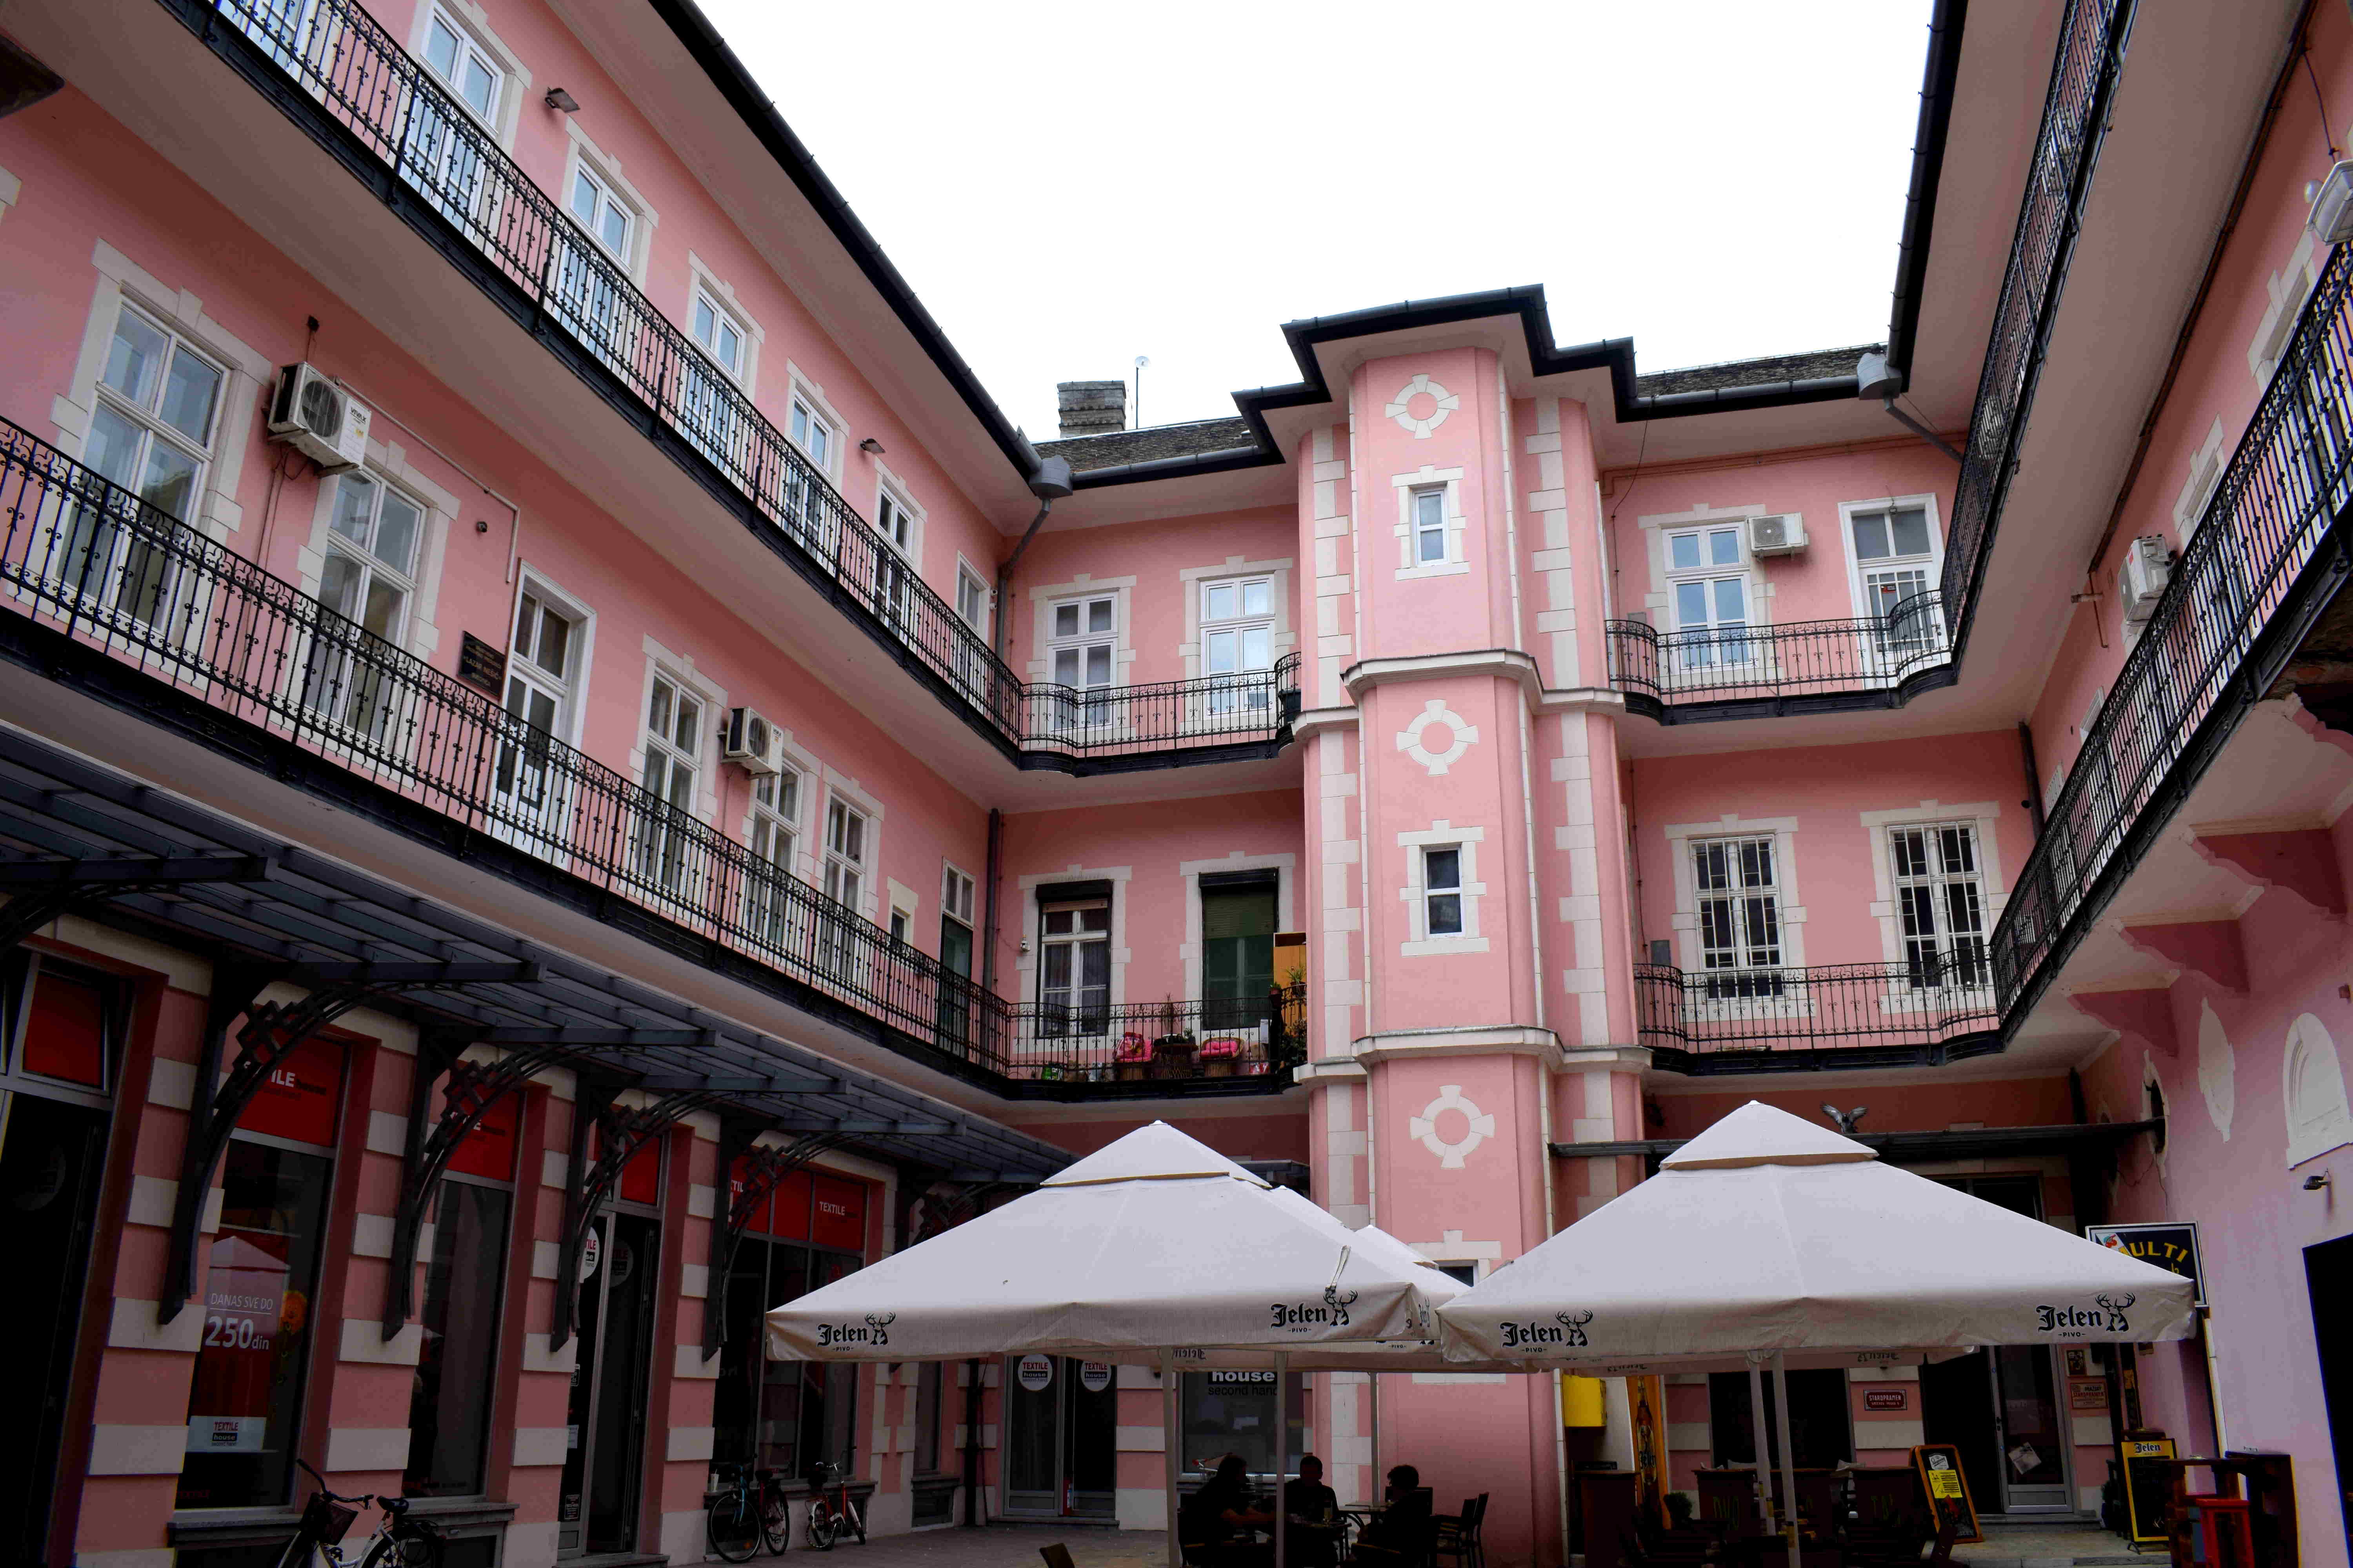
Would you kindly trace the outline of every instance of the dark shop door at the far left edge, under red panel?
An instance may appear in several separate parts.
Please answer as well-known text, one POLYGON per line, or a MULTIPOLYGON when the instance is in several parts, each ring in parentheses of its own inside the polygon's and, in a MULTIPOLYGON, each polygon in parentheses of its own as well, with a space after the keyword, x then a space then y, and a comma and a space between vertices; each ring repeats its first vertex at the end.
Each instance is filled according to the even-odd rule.
POLYGON ((9 1521, 0 1542, 7 1561, 42 1563, 106 1159, 106 1112, 12 1093, 0 1114, 7 1117, 0 1138, 0 1258, 9 1260, 16 1279, 12 1295, 24 1312, 16 1387, 40 1401, 28 1462, 9 1467, 7 1490, 0 1493, 16 1497, 0 1509, 9 1521))

